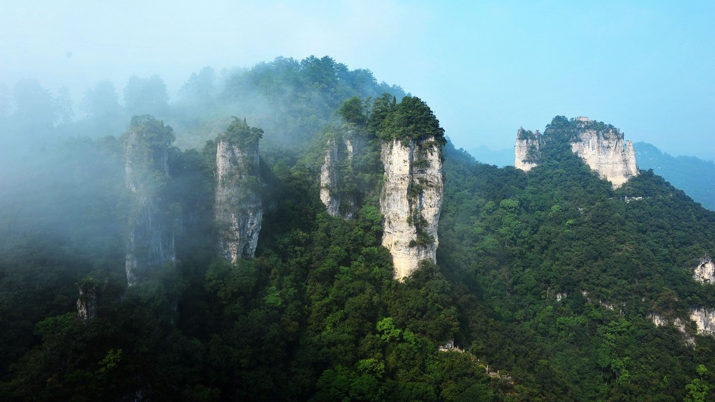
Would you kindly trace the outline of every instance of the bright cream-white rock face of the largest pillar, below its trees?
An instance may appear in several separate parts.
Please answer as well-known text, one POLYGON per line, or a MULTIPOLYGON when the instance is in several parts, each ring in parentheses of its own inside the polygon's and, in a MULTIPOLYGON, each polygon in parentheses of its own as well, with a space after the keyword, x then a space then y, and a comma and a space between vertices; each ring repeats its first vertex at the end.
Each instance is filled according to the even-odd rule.
POLYGON ((440 147, 431 137, 407 146, 399 140, 383 142, 381 159, 383 246, 393 255, 394 277, 402 280, 420 261, 436 262, 443 196, 440 147))

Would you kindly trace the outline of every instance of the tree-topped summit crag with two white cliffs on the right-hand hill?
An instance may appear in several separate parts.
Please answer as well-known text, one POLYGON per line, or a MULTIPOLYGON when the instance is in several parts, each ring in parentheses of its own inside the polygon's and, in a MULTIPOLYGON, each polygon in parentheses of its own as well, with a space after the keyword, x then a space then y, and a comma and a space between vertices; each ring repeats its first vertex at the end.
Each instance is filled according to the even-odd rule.
POLYGON ((554 140, 568 140, 571 151, 598 172, 601 178, 611 182, 613 188, 621 187, 628 179, 638 175, 636 152, 631 141, 624 144, 623 133, 618 129, 587 117, 577 117, 571 121, 557 117, 543 136, 538 131, 532 133, 519 129, 514 166, 525 172, 536 167, 541 158, 541 148, 554 140))

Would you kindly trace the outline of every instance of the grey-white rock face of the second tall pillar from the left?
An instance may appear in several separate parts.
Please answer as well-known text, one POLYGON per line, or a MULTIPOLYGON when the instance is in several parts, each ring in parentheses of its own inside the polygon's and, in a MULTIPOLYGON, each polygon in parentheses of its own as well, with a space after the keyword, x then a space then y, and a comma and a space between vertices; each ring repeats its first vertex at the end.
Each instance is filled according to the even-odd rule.
POLYGON ((255 257, 263 217, 258 146, 249 148, 220 140, 216 150, 217 247, 232 263, 255 257))

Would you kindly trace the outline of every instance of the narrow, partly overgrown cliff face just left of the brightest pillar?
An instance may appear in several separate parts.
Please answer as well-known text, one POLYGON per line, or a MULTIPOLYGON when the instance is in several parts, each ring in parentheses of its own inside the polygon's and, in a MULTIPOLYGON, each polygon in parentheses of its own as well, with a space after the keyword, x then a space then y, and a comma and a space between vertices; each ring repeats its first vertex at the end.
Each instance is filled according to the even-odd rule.
POLYGON ((355 216, 357 200, 355 195, 345 194, 345 172, 342 168, 352 168, 355 155, 360 152, 362 142, 355 133, 348 131, 344 137, 329 139, 325 149, 325 159, 320 167, 320 200, 325 205, 327 213, 352 219, 355 216))

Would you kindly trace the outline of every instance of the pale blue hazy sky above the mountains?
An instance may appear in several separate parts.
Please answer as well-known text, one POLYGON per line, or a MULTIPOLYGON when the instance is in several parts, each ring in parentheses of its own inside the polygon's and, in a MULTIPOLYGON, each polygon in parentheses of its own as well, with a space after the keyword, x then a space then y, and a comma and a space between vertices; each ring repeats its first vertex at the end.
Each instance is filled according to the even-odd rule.
POLYGON ((204 66, 328 55, 425 100, 457 147, 513 147, 557 114, 715 159, 715 1, 0 0, 0 82, 76 99, 204 66))

